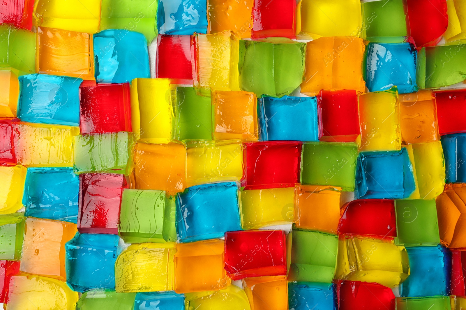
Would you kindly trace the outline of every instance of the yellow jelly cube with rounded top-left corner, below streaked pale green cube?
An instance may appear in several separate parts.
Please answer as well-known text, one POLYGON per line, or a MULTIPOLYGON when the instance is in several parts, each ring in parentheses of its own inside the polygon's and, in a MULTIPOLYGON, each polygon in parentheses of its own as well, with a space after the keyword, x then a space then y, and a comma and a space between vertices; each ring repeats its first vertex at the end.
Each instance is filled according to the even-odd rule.
POLYGON ((174 243, 131 244, 115 264, 117 293, 173 289, 174 243))

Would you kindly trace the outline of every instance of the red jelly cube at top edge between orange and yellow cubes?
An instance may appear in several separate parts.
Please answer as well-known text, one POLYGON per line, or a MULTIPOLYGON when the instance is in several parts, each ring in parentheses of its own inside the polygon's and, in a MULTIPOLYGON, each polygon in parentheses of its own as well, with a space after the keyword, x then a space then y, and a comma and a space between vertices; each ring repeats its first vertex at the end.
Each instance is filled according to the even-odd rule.
POLYGON ((296 1, 255 0, 252 39, 286 37, 295 39, 296 1))

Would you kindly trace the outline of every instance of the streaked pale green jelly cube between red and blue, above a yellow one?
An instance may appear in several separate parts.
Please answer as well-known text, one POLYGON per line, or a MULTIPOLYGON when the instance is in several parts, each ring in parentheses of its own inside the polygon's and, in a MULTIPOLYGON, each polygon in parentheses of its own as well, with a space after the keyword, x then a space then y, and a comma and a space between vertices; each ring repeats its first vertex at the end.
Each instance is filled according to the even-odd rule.
POLYGON ((126 243, 176 241, 175 198, 165 191, 124 189, 120 237, 126 243))

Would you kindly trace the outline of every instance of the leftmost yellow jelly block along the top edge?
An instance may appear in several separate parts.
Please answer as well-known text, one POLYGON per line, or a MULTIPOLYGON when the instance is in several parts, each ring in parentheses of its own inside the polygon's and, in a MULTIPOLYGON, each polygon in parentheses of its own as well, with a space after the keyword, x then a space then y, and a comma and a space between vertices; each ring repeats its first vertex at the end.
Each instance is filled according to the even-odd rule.
POLYGON ((101 1, 39 0, 34 12, 37 26, 69 31, 99 31, 101 1))

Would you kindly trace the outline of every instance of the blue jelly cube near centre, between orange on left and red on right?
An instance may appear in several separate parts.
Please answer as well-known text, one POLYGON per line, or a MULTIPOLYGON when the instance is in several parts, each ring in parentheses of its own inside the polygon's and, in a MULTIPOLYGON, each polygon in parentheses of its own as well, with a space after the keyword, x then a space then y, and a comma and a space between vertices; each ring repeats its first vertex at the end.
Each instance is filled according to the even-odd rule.
POLYGON ((262 97, 258 110, 261 140, 319 141, 315 97, 262 97))

